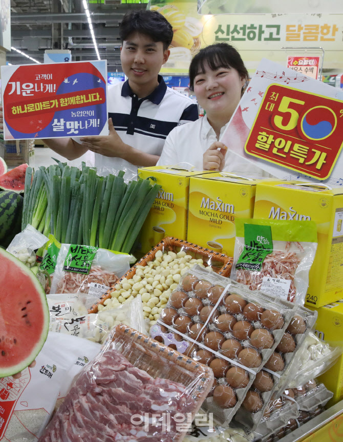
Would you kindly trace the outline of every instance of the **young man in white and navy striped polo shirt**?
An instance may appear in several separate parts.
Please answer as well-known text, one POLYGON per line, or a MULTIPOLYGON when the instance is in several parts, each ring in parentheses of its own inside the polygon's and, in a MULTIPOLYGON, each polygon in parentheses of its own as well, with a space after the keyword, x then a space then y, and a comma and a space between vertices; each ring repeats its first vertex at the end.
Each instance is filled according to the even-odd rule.
POLYGON ((198 108, 190 98, 167 88, 158 75, 173 38, 162 14, 150 10, 125 14, 120 38, 120 59, 128 79, 109 88, 109 135, 44 141, 69 160, 91 150, 98 168, 137 171, 137 166, 156 164, 166 136, 178 124, 198 119, 198 108))

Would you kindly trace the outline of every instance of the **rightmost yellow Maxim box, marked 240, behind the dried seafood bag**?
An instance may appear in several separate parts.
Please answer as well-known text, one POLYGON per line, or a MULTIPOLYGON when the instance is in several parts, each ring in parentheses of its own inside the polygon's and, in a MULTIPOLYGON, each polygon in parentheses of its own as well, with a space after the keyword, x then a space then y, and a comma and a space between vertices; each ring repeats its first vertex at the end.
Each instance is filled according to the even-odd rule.
POLYGON ((304 181, 274 181, 256 187, 254 218, 312 220, 318 247, 306 304, 321 307, 343 298, 343 188, 304 181))

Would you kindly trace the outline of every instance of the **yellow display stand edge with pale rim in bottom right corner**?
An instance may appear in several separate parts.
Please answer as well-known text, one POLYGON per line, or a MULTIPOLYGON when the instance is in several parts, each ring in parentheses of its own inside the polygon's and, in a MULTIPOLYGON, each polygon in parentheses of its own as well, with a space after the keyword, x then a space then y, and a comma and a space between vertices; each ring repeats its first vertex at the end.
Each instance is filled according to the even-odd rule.
POLYGON ((343 401, 340 401, 280 439, 280 442, 341 442, 342 440, 343 401))

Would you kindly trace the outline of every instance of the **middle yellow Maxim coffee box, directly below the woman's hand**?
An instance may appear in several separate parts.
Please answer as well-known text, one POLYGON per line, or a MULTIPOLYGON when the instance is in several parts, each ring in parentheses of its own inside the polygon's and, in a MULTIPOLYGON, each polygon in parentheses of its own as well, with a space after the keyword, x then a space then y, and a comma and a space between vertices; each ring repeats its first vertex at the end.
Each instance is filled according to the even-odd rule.
POLYGON ((267 178, 212 172, 191 177, 187 241, 233 256, 235 218, 252 218, 256 184, 267 178))

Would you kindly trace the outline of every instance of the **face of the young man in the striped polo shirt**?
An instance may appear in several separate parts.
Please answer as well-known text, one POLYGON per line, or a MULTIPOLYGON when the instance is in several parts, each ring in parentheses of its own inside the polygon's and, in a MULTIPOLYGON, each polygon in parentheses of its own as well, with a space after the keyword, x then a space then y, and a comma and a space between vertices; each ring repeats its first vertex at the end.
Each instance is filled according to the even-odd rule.
POLYGON ((158 86, 157 75, 161 66, 169 56, 162 41, 134 32, 123 41, 120 51, 121 66, 132 91, 139 98, 151 94, 158 86))

